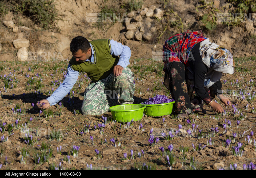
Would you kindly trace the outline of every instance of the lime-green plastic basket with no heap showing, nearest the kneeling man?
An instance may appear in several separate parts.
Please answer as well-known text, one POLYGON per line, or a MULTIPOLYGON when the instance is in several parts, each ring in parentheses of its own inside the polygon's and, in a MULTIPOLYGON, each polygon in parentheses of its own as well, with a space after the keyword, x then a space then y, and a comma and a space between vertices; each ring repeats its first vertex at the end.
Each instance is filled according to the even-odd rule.
POLYGON ((117 122, 131 122, 139 121, 142 119, 144 109, 146 105, 143 104, 122 104, 117 106, 112 106, 109 110, 112 113, 113 119, 117 122))

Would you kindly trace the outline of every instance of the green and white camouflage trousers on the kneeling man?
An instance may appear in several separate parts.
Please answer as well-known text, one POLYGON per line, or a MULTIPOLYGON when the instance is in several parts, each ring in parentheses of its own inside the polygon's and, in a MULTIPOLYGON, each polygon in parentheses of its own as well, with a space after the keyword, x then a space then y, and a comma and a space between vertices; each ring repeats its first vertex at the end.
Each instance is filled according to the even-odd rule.
POLYGON ((121 104, 133 104, 135 91, 133 79, 133 72, 126 67, 122 74, 117 77, 111 73, 105 79, 96 83, 91 82, 85 89, 82 113, 85 115, 101 115, 107 112, 109 107, 117 105, 118 100, 121 104))

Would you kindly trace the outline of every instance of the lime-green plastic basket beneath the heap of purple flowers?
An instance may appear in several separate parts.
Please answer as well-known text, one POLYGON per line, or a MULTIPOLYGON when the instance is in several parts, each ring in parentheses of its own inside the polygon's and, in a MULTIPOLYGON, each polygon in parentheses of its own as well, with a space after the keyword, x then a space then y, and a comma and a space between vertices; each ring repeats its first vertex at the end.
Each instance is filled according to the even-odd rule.
POLYGON ((173 104, 175 101, 163 104, 145 104, 145 114, 152 117, 160 117, 163 115, 169 115, 173 111, 173 104))

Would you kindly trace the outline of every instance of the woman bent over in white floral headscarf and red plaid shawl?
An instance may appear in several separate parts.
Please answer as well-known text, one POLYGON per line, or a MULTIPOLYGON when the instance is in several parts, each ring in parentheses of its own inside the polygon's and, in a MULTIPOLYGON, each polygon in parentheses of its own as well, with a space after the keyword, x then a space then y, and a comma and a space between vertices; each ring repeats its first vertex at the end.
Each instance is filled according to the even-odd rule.
POLYGON ((175 100, 174 111, 179 117, 186 117, 192 111, 199 111, 203 104, 223 113, 217 97, 226 106, 230 100, 222 95, 220 78, 222 73, 234 73, 231 53, 211 43, 200 31, 180 33, 170 37, 163 45, 165 86, 175 100))

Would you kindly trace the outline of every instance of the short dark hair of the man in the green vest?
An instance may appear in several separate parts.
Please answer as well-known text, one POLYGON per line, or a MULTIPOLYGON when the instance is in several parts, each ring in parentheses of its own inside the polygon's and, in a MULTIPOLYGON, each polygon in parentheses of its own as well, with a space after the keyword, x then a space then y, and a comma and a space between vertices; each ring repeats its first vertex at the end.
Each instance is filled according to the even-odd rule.
POLYGON ((71 53, 76 53, 79 49, 82 50, 82 53, 86 53, 90 48, 90 43, 85 37, 77 36, 72 39, 69 48, 71 53))

